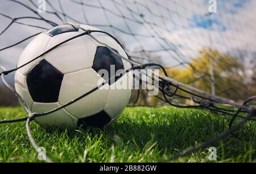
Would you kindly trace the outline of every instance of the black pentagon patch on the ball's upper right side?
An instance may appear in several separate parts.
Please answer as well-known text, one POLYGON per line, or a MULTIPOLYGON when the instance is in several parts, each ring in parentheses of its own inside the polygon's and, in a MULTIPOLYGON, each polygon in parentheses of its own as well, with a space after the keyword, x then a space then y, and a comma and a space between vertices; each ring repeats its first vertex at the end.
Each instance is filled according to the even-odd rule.
MULTIPOLYGON (((117 52, 116 50, 114 51, 117 52)), ((109 80, 109 78, 114 77, 118 69, 122 69, 123 72, 125 70, 125 68, 123 67, 122 59, 115 55, 107 47, 97 47, 92 68, 96 72, 100 71, 101 69, 105 69, 106 71, 108 71, 108 76, 105 76, 105 74, 103 76, 104 80, 106 81, 109 80), (114 65, 114 71, 112 72, 110 72, 111 65, 114 65)), ((120 77, 122 77, 122 75, 115 77, 115 79, 113 78, 113 80, 109 81, 109 85, 113 84, 120 77)))

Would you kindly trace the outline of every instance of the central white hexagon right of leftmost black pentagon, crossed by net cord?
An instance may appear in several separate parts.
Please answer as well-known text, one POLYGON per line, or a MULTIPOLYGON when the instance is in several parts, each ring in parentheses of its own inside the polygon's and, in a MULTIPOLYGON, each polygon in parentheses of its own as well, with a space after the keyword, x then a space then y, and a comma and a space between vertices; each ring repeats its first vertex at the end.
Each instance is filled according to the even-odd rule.
MULTIPOLYGON (((96 88, 102 82, 104 79, 92 68, 65 74, 60 88, 59 103, 64 105, 96 88)), ((65 109, 76 118, 96 114, 104 109, 108 94, 109 90, 98 89, 65 109)))

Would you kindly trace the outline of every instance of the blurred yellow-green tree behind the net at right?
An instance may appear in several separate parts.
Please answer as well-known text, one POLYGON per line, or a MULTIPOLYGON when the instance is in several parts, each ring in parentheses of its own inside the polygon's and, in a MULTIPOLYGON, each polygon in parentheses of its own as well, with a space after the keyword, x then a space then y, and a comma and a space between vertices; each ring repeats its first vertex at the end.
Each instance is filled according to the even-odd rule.
POLYGON ((236 57, 223 55, 217 50, 203 48, 186 68, 167 68, 167 72, 177 81, 210 92, 210 59, 214 63, 216 94, 233 100, 245 99, 244 65, 236 57))

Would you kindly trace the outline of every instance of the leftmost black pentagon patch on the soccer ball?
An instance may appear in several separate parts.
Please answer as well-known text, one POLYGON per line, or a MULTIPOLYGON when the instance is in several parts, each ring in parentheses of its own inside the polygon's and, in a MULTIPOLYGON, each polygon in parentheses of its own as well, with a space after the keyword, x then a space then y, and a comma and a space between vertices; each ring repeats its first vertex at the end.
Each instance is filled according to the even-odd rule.
POLYGON ((27 74, 27 86, 35 102, 57 102, 64 74, 42 60, 27 74))

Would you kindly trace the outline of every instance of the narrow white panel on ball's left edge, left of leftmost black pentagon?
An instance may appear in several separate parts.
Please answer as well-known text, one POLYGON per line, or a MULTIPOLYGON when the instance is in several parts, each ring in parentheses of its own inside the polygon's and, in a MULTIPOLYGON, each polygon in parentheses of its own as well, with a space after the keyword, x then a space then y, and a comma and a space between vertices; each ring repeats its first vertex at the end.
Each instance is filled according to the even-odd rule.
POLYGON ((23 98, 27 106, 31 109, 34 101, 28 92, 27 78, 20 72, 15 73, 15 89, 19 96, 23 98))

